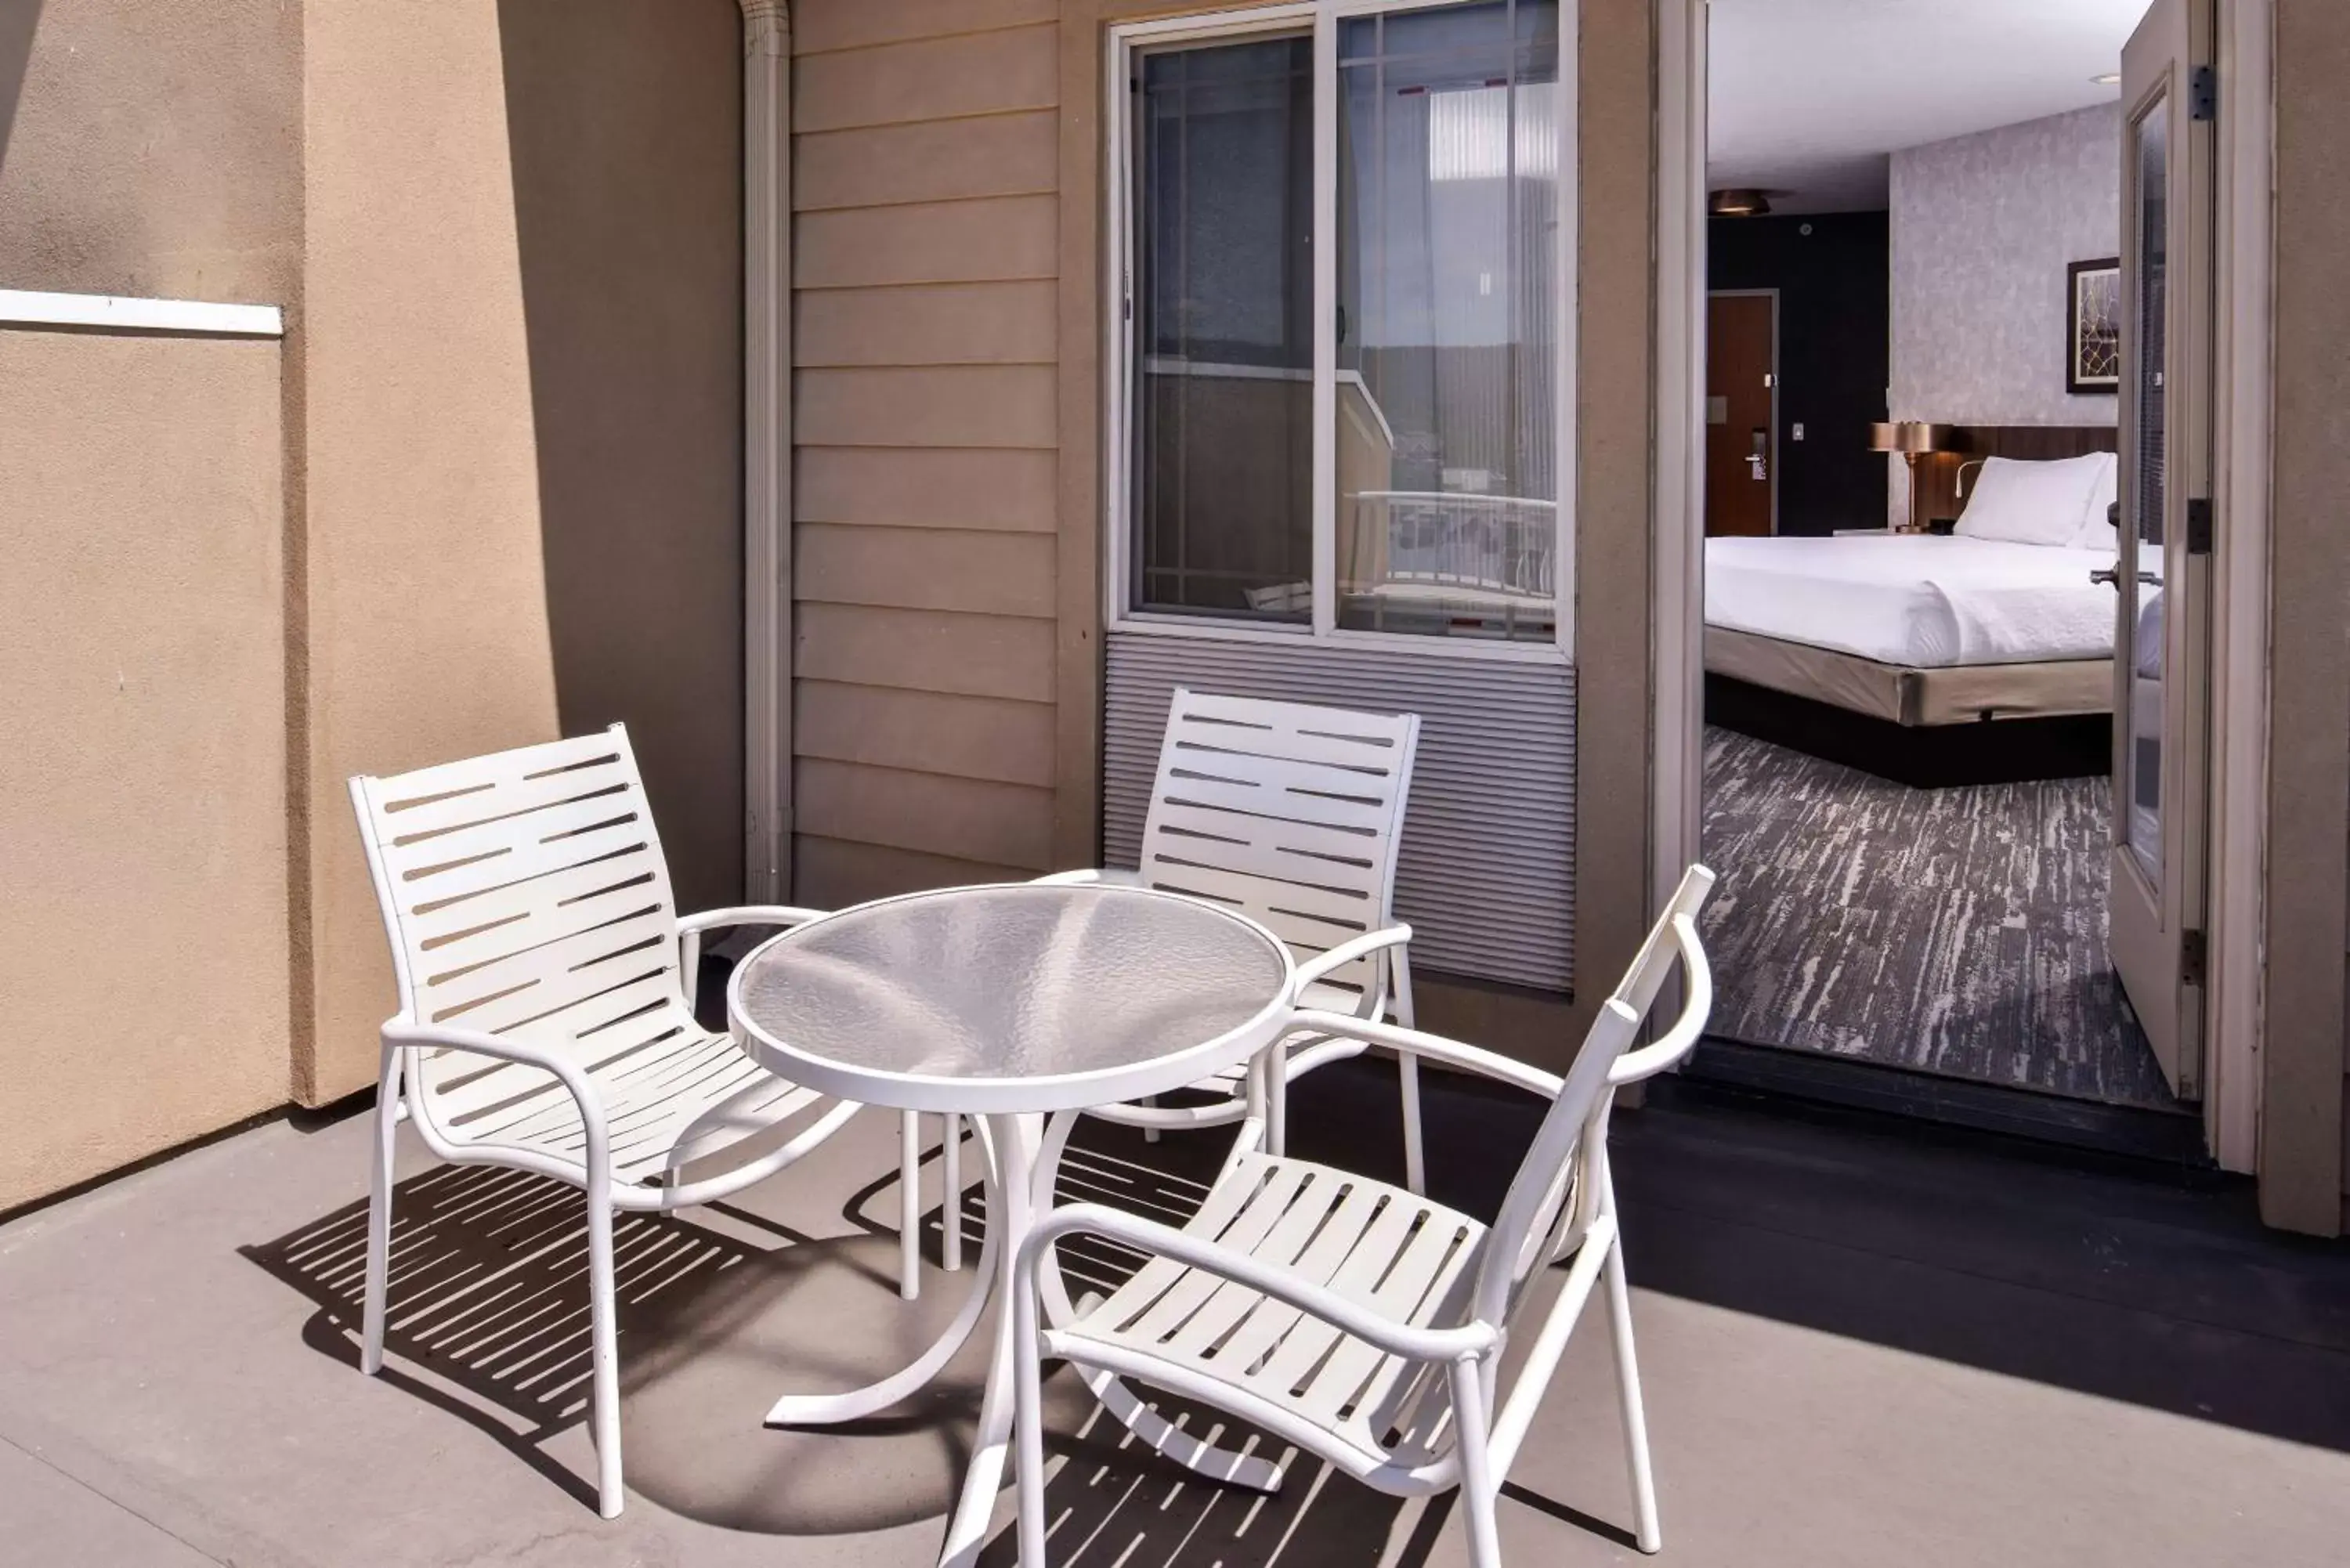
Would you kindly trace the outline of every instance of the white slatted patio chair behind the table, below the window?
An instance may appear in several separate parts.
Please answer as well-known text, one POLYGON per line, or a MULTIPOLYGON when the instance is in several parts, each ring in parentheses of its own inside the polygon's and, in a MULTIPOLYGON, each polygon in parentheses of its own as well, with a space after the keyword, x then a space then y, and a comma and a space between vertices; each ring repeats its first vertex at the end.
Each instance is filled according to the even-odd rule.
MULTIPOLYGON (((1412 792, 1415 712, 1354 712, 1307 703, 1175 689, 1159 780, 1133 872, 1081 870, 1041 882, 1121 882, 1236 907, 1300 957, 1307 1006, 1412 1025, 1408 926, 1396 924, 1396 851, 1412 792)), ((1351 1037, 1297 1032, 1281 1046, 1267 1093, 1267 1150, 1288 1143, 1288 1084, 1347 1056, 1351 1037)), ((1419 1067, 1403 1070, 1403 1164, 1422 1187, 1419 1067)), ((1229 1126, 1248 1114, 1246 1074, 1198 1084, 1196 1105, 1107 1105, 1126 1126, 1229 1126)), ((952 1143, 952 1133, 949 1133, 952 1143)))

